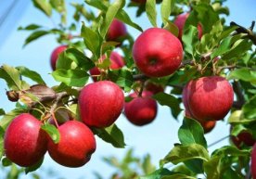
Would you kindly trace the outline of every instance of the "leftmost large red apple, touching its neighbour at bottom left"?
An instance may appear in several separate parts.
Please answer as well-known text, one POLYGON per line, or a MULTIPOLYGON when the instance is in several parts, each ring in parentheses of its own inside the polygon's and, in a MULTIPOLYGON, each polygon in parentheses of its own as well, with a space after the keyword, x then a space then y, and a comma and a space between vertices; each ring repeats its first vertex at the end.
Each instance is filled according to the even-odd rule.
POLYGON ((28 113, 11 121, 4 140, 6 157, 22 167, 41 160, 47 150, 47 134, 41 130, 41 125, 41 121, 28 113))

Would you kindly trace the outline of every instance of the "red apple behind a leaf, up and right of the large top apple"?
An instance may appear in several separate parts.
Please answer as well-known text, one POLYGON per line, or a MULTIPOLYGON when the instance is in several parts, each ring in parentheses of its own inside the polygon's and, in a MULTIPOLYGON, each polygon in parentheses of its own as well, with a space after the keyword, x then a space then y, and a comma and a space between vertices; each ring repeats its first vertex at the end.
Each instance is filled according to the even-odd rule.
MULTIPOLYGON (((179 39, 182 40, 182 34, 183 34, 183 29, 186 23, 186 19, 188 18, 189 13, 184 13, 180 14, 176 17, 174 20, 174 24, 178 27, 179 29, 179 39)), ((201 39, 202 37, 202 27, 200 24, 198 24, 198 39, 201 39)))

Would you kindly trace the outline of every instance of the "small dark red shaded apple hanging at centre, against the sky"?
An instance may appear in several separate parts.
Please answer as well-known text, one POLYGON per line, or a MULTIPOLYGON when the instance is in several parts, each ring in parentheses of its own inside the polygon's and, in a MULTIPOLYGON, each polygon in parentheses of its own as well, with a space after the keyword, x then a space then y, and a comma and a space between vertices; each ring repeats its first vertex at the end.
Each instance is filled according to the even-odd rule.
POLYGON ((130 95, 134 99, 124 104, 124 114, 128 121, 142 126, 155 120, 158 105, 156 100, 151 98, 152 95, 149 91, 143 91, 142 96, 136 93, 130 95))

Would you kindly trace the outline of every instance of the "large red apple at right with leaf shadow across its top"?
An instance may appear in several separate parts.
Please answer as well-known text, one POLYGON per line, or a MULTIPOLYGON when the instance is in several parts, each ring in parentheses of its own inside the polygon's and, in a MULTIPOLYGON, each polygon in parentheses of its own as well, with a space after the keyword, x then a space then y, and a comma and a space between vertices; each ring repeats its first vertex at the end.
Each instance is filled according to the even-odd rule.
POLYGON ((198 121, 222 120, 233 105, 233 88, 220 76, 192 80, 186 90, 186 109, 198 121))

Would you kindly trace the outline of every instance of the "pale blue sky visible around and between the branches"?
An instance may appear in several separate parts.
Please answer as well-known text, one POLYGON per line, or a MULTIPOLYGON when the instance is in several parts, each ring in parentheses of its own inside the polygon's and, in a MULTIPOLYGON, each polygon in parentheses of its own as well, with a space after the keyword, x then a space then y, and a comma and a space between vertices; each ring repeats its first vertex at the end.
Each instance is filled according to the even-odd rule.
MULTIPOLYGON (((17 3, 18 2, 20 3, 19 0, 17 0, 17 3)), ((23 0, 21 2, 25 3, 30 1, 23 0)), ((67 2, 70 3, 71 1, 69 0, 67 2)), ((76 0, 75 2, 83 1, 76 0)), ((0 5, 1 4, 5 4, 4 0, 0 0, 0 5)), ((32 6, 32 3, 28 3, 27 5, 28 6, 19 6, 19 8, 13 12, 12 16, 10 16, 11 18, 5 22, 6 24, 4 24, 4 27, 6 28, 0 30, 0 65, 26 66, 31 70, 39 72, 48 86, 58 84, 51 77, 49 63, 52 50, 58 46, 55 37, 53 35, 48 35, 22 48, 24 40, 29 35, 29 32, 16 31, 20 25, 26 26, 31 23, 37 23, 47 27, 53 27, 52 21, 47 19, 43 13, 35 9, 32 6), (25 10, 22 12, 21 9, 25 10)), ((228 0, 225 5, 230 8, 230 16, 227 18, 226 23, 236 21, 240 25, 250 27, 251 21, 256 20, 256 0, 228 0)), ((3 9, 0 6, 0 12, 2 10, 3 9)), ((145 13, 141 18, 135 19, 135 8, 129 8, 127 10, 132 19, 140 24, 144 30, 151 27, 145 13)), ((72 7, 69 6, 68 11, 69 13, 72 12, 72 7)), ((70 17, 71 14, 72 13, 70 13, 70 17)), ((54 16, 54 20, 58 22, 58 17, 54 16)), ((128 32, 134 35, 134 38, 139 35, 139 32, 133 28, 127 28, 128 32)), ((6 83, 0 79, 0 108, 8 111, 14 108, 14 104, 7 100, 6 90, 6 83)), ((169 90, 170 89, 167 89, 166 92, 169 93, 169 90)), ((96 152, 93 154, 90 162, 83 167, 78 169, 62 167, 46 155, 45 161, 37 173, 44 175, 46 171, 51 169, 56 171, 58 176, 67 179, 94 179, 93 172, 95 171, 102 173, 107 179, 113 170, 109 165, 102 161, 102 158, 108 156, 122 158, 124 153, 130 147, 134 147, 134 154, 138 157, 143 157, 149 153, 153 163, 158 166, 159 160, 170 151, 174 143, 178 142, 177 131, 182 121, 182 116, 180 117, 180 121, 173 120, 170 109, 159 106, 158 116, 155 121, 145 127, 136 127, 121 116, 116 123, 122 129, 127 147, 118 149, 102 142, 101 139, 96 137, 96 152)), ((210 134, 206 134, 208 144, 228 135, 228 133, 229 126, 226 124, 226 121, 218 121, 213 131, 210 134)), ((212 151, 214 148, 221 147, 227 143, 228 140, 224 140, 210 149, 212 151)), ((0 178, 1 175, 0 171, 0 178)), ((29 178, 29 176, 23 175, 21 178, 26 179, 29 178)))

